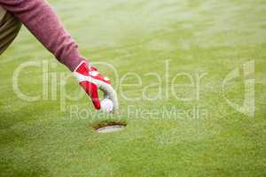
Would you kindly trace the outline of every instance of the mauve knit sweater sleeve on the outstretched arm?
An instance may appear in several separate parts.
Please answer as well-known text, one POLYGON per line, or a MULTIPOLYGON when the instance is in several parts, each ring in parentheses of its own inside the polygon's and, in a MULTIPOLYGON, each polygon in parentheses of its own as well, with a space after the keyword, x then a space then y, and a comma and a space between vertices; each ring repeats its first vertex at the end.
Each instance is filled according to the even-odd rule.
POLYGON ((71 71, 83 60, 76 42, 45 0, 0 0, 0 5, 20 19, 44 47, 71 71))

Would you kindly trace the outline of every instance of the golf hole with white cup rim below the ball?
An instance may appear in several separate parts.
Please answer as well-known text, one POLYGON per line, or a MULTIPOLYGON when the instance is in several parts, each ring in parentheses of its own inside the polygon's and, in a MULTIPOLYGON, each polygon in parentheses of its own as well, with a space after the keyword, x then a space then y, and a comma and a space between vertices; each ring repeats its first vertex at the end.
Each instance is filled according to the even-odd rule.
POLYGON ((98 125, 94 126, 94 129, 99 134, 108 134, 108 133, 122 131, 126 126, 127 126, 126 122, 113 121, 113 122, 99 123, 98 125))

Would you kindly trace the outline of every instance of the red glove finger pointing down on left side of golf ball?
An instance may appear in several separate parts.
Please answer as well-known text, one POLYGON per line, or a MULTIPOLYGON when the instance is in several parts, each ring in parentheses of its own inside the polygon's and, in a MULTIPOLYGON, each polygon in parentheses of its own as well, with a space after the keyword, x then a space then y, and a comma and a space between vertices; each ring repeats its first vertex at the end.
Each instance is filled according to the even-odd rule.
POLYGON ((95 109, 101 109, 101 104, 98 99, 98 88, 95 84, 89 81, 82 81, 80 82, 82 88, 86 91, 86 93, 90 96, 92 104, 94 105, 95 109))

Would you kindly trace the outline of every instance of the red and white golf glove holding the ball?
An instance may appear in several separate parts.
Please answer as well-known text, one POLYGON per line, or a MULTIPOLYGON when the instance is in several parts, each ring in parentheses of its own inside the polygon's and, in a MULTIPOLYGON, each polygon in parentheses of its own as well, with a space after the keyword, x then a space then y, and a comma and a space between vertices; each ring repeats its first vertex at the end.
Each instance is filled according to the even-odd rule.
POLYGON ((98 98, 98 89, 104 92, 104 97, 109 98, 113 102, 113 112, 118 111, 117 94, 111 86, 110 80, 98 73, 96 67, 90 66, 86 61, 82 61, 75 69, 74 76, 76 77, 82 89, 90 96, 94 107, 97 110, 101 109, 100 100, 98 98))

